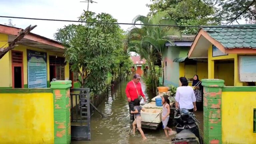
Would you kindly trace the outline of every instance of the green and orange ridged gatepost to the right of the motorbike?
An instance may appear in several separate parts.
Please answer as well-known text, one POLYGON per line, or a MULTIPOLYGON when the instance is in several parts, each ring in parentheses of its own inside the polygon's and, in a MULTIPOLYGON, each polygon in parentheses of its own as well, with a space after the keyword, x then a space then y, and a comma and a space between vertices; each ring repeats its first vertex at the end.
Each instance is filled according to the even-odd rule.
POLYGON ((204 86, 204 144, 221 144, 221 95, 224 80, 202 79, 204 86))

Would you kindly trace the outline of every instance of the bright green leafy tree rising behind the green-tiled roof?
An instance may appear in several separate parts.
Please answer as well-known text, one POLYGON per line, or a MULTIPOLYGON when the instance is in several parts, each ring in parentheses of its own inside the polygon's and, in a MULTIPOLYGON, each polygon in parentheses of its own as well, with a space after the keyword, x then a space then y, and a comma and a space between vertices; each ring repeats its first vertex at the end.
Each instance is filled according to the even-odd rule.
MULTIPOLYGON (((151 0, 152 4, 147 4, 150 8, 149 16, 157 12, 167 12, 170 18, 178 25, 200 26, 220 24, 215 14, 217 8, 210 0, 151 0)), ((198 28, 182 28, 183 34, 196 34, 198 28)))

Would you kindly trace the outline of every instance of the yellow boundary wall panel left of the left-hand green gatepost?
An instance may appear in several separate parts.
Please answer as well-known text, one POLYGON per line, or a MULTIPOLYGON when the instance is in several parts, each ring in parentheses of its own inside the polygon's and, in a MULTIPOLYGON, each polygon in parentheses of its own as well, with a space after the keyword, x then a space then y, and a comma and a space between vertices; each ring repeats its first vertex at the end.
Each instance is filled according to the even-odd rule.
POLYGON ((0 94, 0 143, 53 144, 53 94, 0 94))

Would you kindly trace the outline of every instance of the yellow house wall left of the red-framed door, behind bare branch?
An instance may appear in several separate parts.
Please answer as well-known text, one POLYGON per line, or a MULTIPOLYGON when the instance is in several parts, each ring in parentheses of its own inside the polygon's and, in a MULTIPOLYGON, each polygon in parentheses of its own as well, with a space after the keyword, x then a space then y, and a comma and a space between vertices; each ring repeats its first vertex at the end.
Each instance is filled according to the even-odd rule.
MULTIPOLYGON (((8 35, 0 33, 0 48, 8 47, 8 35), (7 44, 6 44, 7 43, 7 44), (4 46, 5 45, 5 46, 4 46)), ((12 73, 11 73, 11 61, 9 61, 10 53, 6 53, 2 59, 0 59, 0 87, 12 87, 12 73)))

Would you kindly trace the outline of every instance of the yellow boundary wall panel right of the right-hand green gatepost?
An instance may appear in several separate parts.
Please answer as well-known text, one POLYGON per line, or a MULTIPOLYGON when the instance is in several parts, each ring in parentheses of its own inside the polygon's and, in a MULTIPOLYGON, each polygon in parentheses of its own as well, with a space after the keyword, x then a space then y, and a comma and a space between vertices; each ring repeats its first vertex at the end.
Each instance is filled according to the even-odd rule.
POLYGON ((255 144, 253 109, 256 92, 222 92, 222 142, 255 144))

